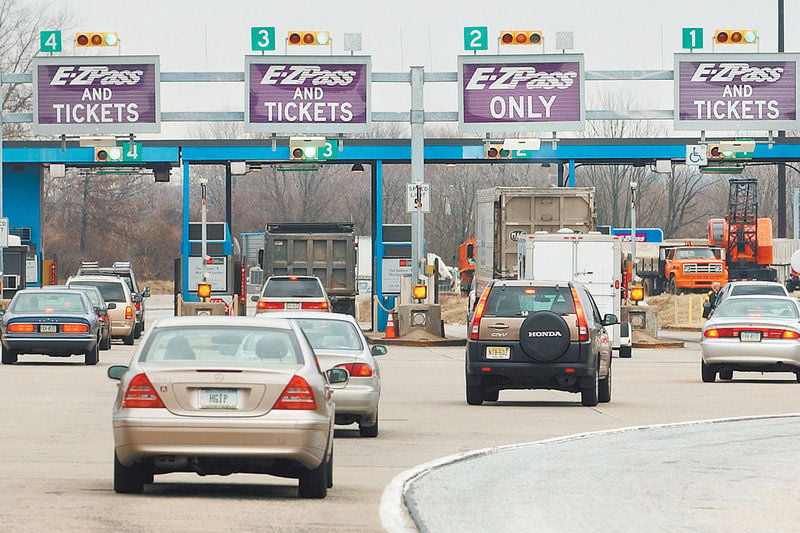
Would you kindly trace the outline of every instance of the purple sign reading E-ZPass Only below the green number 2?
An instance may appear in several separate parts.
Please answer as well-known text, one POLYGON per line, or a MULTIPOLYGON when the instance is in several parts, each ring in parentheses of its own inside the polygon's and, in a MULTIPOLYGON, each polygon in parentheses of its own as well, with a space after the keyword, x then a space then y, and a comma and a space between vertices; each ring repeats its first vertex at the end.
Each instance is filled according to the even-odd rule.
POLYGON ((459 56, 459 129, 582 130, 583 56, 459 56))

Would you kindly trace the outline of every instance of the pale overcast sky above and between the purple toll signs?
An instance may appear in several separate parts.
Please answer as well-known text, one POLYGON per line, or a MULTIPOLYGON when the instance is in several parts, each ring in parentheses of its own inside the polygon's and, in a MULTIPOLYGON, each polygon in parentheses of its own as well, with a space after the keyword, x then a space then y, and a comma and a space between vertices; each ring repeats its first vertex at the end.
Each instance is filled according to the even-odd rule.
MULTIPOLYGON (((26 0, 23 0, 26 1, 26 0)), ((31 0, 27 0, 31 1, 31 0)), ((787 52, 800 50, 800 0, 786 0, 787 52)), ((244 70, 250 28, 274 26, 283 55, 289 30, 328 30, 334 55, 343 54, 343 35, 361 33, 361 55, 372 57, 373 72, 455 72, 465 26, 487 26, 497 53, 501 30, 542 30, 544 50, 555 53, 555 32, 574 32, 574 50, 586 70, 673 68, 681 52, 681 28, 704 29, 703 52, 712 52, 715 29, 755 29, 759 46, 742 51, 777 51, 777 0, 50 0, 51 9, 72 14, 75 27, 64 35, 64 52, 74 53, 73 31, 116 31, 123 55, 158 55, 162 72, 244 70)), ((329 55, 331 48, 291 47, 289 55, 329 55)), ((518 53, 537 47, 503 47, 518 53)), ((730 46, 716 51, 728 51, 730 46)), ((116 50, 102 50, 103 54, 116 50)), ((92 49, 92 54, 96 49, 92 49)), ((605 82, 615 83, 615 82, 605 82)), ((373 84, 373 111, 407 111, 408 86, 373 84)), ((587 83, 591 95, 599 83, 587 83), (595 87, 593 87, 595 85, 595 87)), ((645 109, 671 109, 671 82, 619 84, 644 95, 645 109)), ((242 111, 242 84, 162 84, 162 111, 242 111)), ((426 111, 457 111, 456 84, 428 84, 426 111)), ((587 106, 592 109, 592 106, 587 106)), ((162 137, 184 136, 188 124, 162 124, 162 137)))

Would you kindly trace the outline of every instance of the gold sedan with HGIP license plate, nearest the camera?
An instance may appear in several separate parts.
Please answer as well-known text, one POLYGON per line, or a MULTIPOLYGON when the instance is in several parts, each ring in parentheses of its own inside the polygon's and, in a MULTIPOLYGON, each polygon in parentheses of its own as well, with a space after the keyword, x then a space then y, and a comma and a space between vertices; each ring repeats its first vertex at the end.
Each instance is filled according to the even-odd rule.
POLYGON ((108 375, 120 380, 116 492, 142 492, 154 475, 169 472, 297 478, 304 498, 323 498, 333 485, 330 388, 348 375, 323 375, 296 324, 162 319, 130 365, 112 366, 108 375), (247 342, 252 351, 240 349, 247 342))

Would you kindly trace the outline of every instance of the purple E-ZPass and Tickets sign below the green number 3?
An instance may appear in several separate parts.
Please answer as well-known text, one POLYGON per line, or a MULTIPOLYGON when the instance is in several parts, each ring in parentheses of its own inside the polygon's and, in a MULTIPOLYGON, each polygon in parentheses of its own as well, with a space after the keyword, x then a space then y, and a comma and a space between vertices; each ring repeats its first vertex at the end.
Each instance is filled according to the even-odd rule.
POLYGON ((247 56, 245 129, 368 132, 370 76, 368 57, 247 56))

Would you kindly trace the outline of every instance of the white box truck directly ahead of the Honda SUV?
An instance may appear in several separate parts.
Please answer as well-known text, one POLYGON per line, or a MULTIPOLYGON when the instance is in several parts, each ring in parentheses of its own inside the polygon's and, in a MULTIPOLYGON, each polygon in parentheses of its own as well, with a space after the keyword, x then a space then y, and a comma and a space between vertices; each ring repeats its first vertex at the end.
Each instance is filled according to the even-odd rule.
MULTIPOLYGON (((592 293, 600 316, 620 316, 622 250, 617 236, 570 229, 524 235, 517 262, 521 279, 578 281, 592 293)), ((630 357, 630 324, 620 322, 606 329, 619 356, 630 357)))

